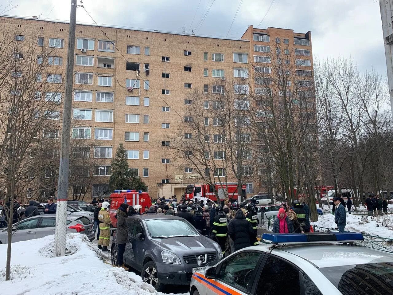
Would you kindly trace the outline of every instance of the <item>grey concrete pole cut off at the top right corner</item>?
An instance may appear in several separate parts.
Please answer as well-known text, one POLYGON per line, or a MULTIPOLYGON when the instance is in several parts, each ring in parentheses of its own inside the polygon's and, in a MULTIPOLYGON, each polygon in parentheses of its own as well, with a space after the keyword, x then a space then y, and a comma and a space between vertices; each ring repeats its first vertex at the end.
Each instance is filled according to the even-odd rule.
POLYGON ((389 84, 390 107, 393 115, 393 0, 379 0, 382 32, 384 34, 387 81, 389 84))

